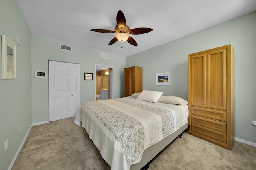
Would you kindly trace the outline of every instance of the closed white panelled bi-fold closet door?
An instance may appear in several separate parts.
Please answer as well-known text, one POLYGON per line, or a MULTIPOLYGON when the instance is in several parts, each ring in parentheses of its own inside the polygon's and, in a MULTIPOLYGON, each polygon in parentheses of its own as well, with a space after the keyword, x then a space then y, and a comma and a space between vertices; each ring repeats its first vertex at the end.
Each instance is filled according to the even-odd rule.
POLYGON ((76 116, 80 107, 80 64, 49 61, 49 121, 76 116))

